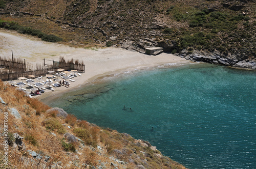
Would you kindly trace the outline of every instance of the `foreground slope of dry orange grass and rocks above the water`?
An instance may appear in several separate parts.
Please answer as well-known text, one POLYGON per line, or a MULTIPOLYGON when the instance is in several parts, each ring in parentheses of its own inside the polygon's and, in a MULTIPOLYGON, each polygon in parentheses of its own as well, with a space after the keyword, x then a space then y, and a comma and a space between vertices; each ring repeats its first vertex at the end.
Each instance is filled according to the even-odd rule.
POLYGON ((0 80, 0 168, 185 168, 126 133, 77 120, 0 80))

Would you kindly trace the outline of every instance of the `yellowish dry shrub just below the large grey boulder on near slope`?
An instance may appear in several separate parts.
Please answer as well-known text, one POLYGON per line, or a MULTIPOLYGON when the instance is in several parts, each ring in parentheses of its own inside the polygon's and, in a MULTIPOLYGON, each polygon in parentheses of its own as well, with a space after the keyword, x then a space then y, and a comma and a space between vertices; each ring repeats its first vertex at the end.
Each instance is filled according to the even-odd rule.
POLYGON ((66 132, 64 126, 54 118, 46 119, 42 122, 42 125, 46 126, 46 129, 56 131, 59 134, 64 134, 66 132))

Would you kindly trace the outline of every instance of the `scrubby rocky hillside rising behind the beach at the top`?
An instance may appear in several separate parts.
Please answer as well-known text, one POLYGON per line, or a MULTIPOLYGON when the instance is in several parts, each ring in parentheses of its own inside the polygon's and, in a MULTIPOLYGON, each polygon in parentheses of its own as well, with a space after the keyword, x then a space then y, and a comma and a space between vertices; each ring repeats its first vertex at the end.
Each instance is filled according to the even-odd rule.
POLYGON ((0 0, 2 19, 69 45, 163 47, 193 61, 256 69, 253 0, 0 0))

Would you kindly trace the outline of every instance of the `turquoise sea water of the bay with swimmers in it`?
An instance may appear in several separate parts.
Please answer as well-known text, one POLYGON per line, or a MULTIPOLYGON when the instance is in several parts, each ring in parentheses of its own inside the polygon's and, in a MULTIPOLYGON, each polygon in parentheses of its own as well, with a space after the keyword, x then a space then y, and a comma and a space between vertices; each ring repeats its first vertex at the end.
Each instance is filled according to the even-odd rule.
POLYGON ((120 76, 51 106, 148 140, 188 168, 256 168, 256 72, 199 64, 120 76))

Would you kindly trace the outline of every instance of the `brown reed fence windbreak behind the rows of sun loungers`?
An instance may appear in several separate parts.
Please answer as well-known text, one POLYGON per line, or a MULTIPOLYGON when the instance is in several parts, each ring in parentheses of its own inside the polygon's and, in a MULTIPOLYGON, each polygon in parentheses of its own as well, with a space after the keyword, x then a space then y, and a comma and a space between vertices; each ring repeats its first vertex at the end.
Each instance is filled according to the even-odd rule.
MULTIPOLYGON (((2 59, 0 57, 0 60, 3 60, 3 67, 5 67, 4 71, 1 71, 0 73, 0 79, 2 80, 14 80, 17 79, 18 77, 27 77, 29 75, 35 75, 36 77, 39 76, 45 76, 46 74, 49 74, 49 71, 54 71, 57 72, 57 69, 64 69, 64 70, 77 70, 78 72, 84 73, 85 71, 85 65, 83 64, 83 62, 79 62, 78 60, 73 61, 66 61, 63 57, 60 57, 59 62, 53 61, 52 65, 46 65, 46 66, 40 66, 37 65, 36 69, 32 69, 30 68, 29 71, 26 71, 26 61, 24 60, 24 62, 22 62, 22 60, 14 60, 15 62, 18 61, 17 63, 23 63, 25 64, 25 67, 21 67, 21 68, 14 68, 14 67, 10 67, 10 60, 8 59, 2 59), (6 61, 6 62, 4 62, 6 61)), ((12 60, 11 60, 12 61, 12 60)), ((18 65, 18 64, 17 64, 18 65)), ((22 64, 20 64, 22 65, 22 64)), ((45 61, 44 61, 44 65, 45 65, 45 61)))

